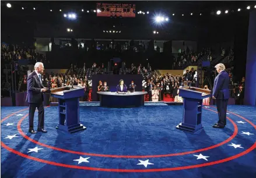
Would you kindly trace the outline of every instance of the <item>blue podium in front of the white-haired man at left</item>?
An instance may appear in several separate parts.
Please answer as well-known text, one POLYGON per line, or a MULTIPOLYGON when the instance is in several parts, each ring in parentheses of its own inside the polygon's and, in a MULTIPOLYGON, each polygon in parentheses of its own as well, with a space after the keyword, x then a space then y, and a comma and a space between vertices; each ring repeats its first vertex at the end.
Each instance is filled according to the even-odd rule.
POLYGON ((68 133, 85 130, 79 121, 79 97, 85 95, 85 87, 66 86, 51 89, 52 97, 58 98, 59 124, 56 127, 68 133))

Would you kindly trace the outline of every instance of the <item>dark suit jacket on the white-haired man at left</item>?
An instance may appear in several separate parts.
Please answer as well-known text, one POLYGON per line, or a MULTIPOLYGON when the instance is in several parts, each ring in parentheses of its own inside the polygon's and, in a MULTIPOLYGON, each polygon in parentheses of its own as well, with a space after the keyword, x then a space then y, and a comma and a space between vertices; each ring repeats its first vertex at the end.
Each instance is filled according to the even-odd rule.
POLYGON ((27 98, 26 102, 41 104, 44 101, 43 92, 41 92, 41 88, 44 88, 43 81, 42 84, 37 76, 37 73, 31 72, 29 76, 27 76, 27 98))

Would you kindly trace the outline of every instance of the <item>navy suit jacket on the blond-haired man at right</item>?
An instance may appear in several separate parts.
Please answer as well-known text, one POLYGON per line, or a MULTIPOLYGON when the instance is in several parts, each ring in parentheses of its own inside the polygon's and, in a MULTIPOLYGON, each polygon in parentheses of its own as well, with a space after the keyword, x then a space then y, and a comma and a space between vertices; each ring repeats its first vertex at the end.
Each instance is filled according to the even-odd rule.
POLYGON ((216 76, 212 95, 216 99, 229 99, 229 74, 225 70, 216 76))

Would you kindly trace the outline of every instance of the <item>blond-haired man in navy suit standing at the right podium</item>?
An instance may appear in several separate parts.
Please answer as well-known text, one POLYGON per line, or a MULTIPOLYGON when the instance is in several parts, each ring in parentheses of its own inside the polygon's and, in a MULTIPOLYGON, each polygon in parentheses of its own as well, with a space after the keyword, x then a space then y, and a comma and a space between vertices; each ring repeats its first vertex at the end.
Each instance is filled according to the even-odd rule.
POLYGON ((215 66, 217 72, 213 84, 212 98, 216 99, 216 105, 219 115, 218 123, 214 124, 214 128, 224 128, 226 126, 227 101, 229 101, 229 74, 225 71, 225 65, 219 63, 215 66))

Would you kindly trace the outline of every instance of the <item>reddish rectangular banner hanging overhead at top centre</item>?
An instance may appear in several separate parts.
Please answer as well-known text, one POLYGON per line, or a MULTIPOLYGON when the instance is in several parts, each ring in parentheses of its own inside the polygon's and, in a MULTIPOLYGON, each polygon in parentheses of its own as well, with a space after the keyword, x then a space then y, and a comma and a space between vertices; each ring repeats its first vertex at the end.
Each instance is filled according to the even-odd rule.
POLYGON ((97 3, 97 17, 135 17, 135 4, 97 3))

